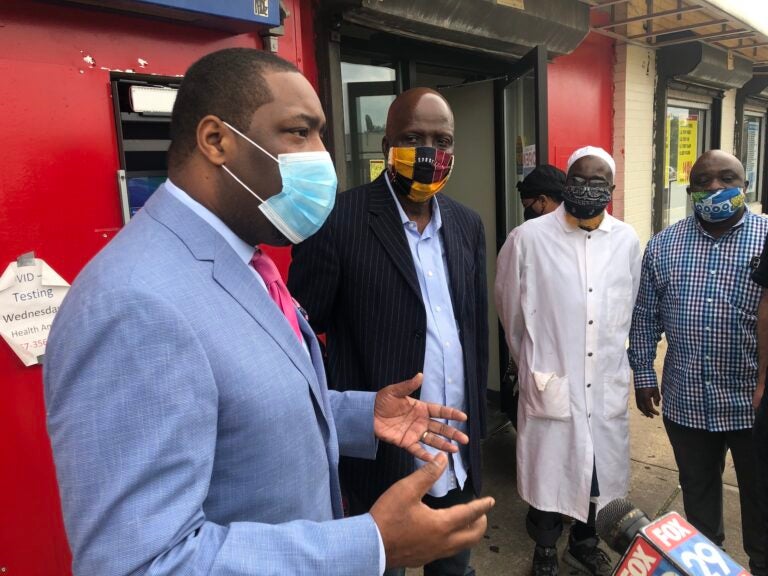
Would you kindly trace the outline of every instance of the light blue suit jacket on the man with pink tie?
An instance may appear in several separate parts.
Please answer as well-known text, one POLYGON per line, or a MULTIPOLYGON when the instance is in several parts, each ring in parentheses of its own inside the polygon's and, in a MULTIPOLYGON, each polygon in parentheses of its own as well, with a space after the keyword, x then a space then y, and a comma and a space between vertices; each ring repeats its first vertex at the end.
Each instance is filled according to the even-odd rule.
POLYGON ((86 266, 45 361, 75 574, 378 574, 337 474, 339 452, 375 456, 373 395, 329 392, 300 323, 311 358, 164 188, 86 266))

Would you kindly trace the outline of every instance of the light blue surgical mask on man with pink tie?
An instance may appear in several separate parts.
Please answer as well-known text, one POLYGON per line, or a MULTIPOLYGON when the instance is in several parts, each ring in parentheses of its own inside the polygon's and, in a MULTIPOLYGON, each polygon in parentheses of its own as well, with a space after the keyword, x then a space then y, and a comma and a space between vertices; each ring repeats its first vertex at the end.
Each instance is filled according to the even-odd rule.
POLYGON ((279 194, 262 199, 245 182, 222 164, 227 174, 261 201, 259 210, 283 236, 298 244, 320 230, 336 202, 336 170, 331 155, 322 152, 292 152, 275 158, 228 122, 224 124, 235 134, 264 152, 278 163, 283 189, 279 194))

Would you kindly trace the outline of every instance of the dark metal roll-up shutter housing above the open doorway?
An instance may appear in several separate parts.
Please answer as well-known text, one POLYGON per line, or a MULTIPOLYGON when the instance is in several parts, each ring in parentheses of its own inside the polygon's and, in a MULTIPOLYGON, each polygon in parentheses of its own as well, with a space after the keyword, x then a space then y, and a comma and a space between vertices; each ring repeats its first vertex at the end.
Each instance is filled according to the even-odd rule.
POLYGON ((589 7, 572 0, 329 0, 343 21, 445 46, 518 59, 534 46, 573 51, 589 33, 589 7))

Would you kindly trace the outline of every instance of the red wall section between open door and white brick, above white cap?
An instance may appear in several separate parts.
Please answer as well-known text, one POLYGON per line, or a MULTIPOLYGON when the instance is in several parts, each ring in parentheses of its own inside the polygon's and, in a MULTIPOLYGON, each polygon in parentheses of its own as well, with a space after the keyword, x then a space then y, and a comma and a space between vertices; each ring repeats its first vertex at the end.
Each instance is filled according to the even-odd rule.
POLYGON ((613 40, 590 34, 549 75, 549 161, 565 170, 582 146, 613 148, 613 40))

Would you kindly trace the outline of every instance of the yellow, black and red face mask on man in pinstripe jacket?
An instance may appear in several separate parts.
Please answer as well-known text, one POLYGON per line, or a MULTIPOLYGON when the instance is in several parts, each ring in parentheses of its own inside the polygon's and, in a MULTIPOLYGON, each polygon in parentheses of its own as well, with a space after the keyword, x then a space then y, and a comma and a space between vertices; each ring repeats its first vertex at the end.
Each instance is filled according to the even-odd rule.
POLYGON ((453 154, 430 146, 392 147, 387 168, 395 192, 413 202, 426 202, 448 182, 453 154))

